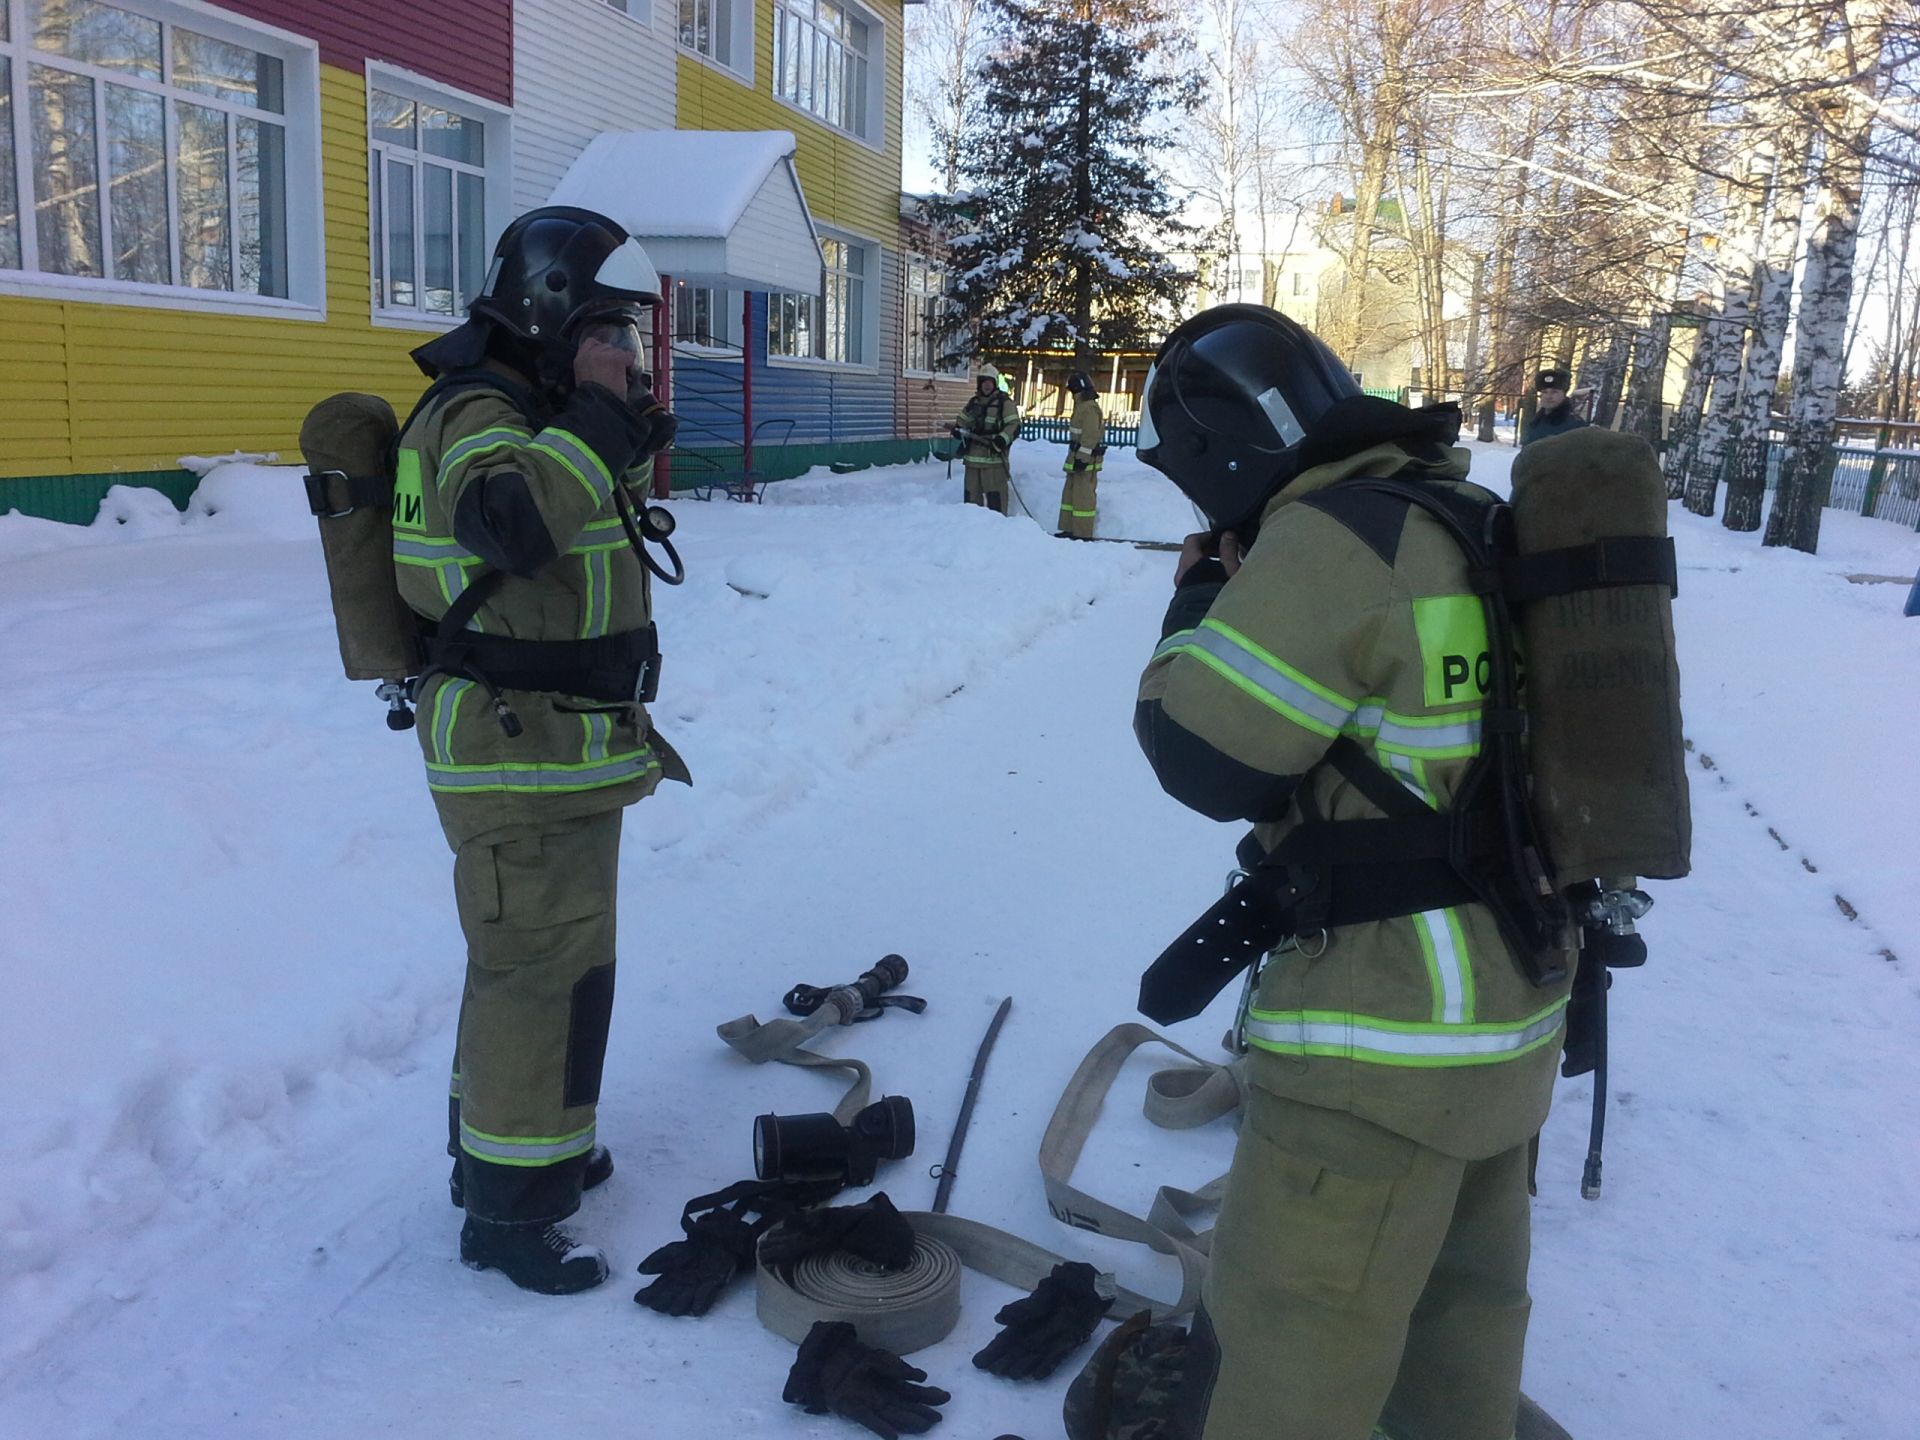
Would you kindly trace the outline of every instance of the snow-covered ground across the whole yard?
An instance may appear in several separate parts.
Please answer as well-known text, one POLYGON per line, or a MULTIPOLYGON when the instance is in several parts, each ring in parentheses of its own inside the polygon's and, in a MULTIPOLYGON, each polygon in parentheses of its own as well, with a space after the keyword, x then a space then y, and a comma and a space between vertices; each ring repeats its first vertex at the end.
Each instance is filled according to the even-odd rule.
MULTIPOLYGON (((1050 540, 1060 453, 1016 447, 1044 528, 954 503, 939 465, 676 503, 655 718, 695 787, 628 820, 618 1173, 578 1223, 616 1279, 572 1300, 457 1261, 451 856, 413 737, 338 680, 294 472, 219 470, 184 518, 142 492, 86 530, 0 518, 0 1436, 860 1434, 780 1402, 791 1346, 745 1288, 703 1321, 628 1296, 682 1200, 751 1173, 755 1114, 837 1096, 712 1025, 887 950, 927 1014, 831 1041, 916 1102, 881 1185, 929 1202, 1012 995, 954 1210, 1169 1294, 1164 1261, 1046 1215, 1033 1156, 1233 831, 1160 795, 1129 732, 1171 557, 1050 540)), ((1100 513, 1192 528, 1131 453, 1100 513)), ((1803 557, 1674 524, 1695 874, 1615 985, 1597 1204, 1584 1081, 1548 1127, 1526 1384, 1580 1440, 1914 1440, 1920 622, 1845 576, 1910 576, 1920 538, 1828 515, 1803 557)), ((1225 1008, 1177 1037, 1212 1052, 1225 1008)), ((1079 1175, 1140 1206, 1231 1152, 1225 1125, 1146 1127, 1144 1073, 1079 1175)), ((1064 1375, 968 1365, 1010 1292, 966 1286, 916 1356, 954 1390, 941 1432, 1058 1436, 1064 1375)))

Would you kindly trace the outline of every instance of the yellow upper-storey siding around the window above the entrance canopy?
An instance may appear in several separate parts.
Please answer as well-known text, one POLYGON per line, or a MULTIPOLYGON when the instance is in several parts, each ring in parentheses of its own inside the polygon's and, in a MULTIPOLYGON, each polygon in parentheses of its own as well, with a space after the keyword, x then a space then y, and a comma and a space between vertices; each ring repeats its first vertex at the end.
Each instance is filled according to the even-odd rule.
POLYGON ((879 150, 822 125, 774 100, 774 6, 755 4, 753 86, 722 69, 680 54, 676 125, 682 131, 793 131, 795 169, 806 205, 824 225, 899 244, 900 230, 900 29, 899 0, 868 0, 885 21, 887 104, 885 144, 879 150))

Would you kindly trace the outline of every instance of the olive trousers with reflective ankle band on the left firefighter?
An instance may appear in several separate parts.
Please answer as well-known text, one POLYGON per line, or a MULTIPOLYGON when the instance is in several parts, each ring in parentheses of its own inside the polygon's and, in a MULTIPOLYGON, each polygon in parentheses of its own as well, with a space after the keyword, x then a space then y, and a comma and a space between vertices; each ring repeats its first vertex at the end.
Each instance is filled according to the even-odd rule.
POLYGON ((467 1213, 549 1225, 580 1208, 612 1020, 620 810, 461 845, 467 989, 449 1150, 467 1213))

